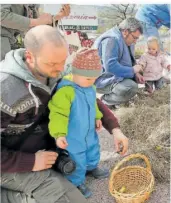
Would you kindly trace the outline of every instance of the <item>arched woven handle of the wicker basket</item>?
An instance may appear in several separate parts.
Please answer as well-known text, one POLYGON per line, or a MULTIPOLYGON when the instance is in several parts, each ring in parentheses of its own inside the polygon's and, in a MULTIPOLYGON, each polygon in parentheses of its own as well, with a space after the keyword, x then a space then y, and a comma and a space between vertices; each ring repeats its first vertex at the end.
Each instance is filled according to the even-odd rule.
POLYGON ((116 165, 116 167, 114 168, 114 171, 118 170, 121 167, 121 165, 123 165, 125 162, 130 161, 132 159, 137 159, 137 158, 143 159, 147 166, 147 170, 151 172, 151 164, 150 164, 148 158, 143 154, 131 154, 131 155, 125 157, 122 161, 120 161, 116 165))

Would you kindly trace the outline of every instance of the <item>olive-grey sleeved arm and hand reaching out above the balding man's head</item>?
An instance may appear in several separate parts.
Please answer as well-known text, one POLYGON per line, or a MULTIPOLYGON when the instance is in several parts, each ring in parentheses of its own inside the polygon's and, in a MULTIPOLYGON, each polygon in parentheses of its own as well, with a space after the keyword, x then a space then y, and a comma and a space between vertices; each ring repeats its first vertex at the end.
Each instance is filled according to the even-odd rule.
POLYGON ((1 4, 0 8, 1 26, 20 31, 27 31, 37 25, 52 24, 52 16, 48 13, 33 19, 11 12, 11 4, 1 4))

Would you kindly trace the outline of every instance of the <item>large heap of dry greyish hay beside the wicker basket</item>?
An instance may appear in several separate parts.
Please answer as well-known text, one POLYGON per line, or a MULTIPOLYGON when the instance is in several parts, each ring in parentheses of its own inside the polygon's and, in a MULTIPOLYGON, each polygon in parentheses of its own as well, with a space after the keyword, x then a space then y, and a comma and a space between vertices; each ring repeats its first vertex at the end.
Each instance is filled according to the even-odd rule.
MULTIPOLYGON (((134 108, 121 108, 119 116, 123 133, 129 138, 129 153, 145 154, 158 181, 170 180, 170 109, 169 88, 142 96, 134 108)), ((141 163, 141 162, 134 162, 141 163)))

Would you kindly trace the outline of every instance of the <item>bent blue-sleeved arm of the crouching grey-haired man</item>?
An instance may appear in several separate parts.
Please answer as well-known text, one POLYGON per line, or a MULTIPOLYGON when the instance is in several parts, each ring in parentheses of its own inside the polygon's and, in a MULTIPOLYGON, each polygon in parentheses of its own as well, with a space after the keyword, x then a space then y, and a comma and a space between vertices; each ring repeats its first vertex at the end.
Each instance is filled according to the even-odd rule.
POLYGON ((107 72, 117 77, 133 78, 134 69, 119 63, 119 45, 115 38, 107 38, 102 41, 102 61, 107 72))

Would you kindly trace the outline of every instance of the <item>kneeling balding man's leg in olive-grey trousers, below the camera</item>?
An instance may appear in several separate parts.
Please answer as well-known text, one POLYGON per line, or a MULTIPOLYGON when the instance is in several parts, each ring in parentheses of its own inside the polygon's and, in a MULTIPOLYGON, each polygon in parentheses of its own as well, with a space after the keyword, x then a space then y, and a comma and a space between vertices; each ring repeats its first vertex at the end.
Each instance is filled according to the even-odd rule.
MULTIPOLYGON (((2 188, 18 192, 19 195, 24 193, 35 199, 36 203, 86 203, 86 199, 79 190, 53 170, 19 174, 3 173, 1 179, 2 188)), ((8 196, 9 194, 7 194, 8 196)), ((14 193, 13 196, 15 196, 14 193)), ((20 199, 17 203, 20 203, 20 199)), ((10 202, 8 201, 8 203, 10 202)))

